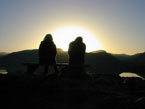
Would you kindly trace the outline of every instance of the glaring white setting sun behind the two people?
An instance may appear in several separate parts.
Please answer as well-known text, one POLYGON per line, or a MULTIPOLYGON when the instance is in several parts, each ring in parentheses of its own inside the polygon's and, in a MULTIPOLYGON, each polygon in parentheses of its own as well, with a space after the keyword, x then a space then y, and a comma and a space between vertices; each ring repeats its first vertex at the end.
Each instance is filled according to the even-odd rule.
POLYGON ((68 50, 69 43, 76 37, 81 36, 86 44, 86 52, 103 49, 101 43, 95 35, 80 27, 62 27, 52 32, 53 40, 57 48, 68 50))

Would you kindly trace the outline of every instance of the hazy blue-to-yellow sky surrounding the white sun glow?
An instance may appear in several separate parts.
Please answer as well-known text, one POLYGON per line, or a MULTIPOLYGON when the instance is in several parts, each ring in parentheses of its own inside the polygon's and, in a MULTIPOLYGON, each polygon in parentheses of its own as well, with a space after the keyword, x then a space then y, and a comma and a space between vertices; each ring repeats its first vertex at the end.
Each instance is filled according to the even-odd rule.
POLYGON ((0 0, 0 52, 37 49, 47 33, 72 25, 107 52, 145 52, 145 0, 0 0))

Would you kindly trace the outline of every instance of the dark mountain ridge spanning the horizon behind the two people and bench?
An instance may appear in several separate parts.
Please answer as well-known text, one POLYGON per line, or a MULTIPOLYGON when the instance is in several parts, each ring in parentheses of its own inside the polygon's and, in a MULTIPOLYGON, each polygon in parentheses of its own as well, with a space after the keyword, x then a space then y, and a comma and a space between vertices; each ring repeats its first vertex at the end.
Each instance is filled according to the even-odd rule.
MULTIPOLYGON (((38 63, 38 59, 37 49, 13 52, 0 58, 0 68, 5 68, 8 71, 21 71, 26 69, 22 66, 22 63, 38 63)), ((68 53, 58 48, 56 61, 58 63, 68 63, 68 59, 68 53)), ((98 50, 86 53, 85 63, 91 66, 88 68, 88 72, 115 74, 116 72, 129 71, 134 66, 145 65, 145 53, 130 56, 98 50)))

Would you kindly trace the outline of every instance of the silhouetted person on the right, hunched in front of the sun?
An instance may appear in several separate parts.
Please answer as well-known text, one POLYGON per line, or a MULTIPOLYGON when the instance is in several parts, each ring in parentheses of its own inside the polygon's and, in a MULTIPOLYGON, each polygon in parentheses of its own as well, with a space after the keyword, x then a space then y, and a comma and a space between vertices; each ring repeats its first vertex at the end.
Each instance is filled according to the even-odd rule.
POLYGON ((82 37, 77 37, 69 44, 69 64, 84 64, 85 51, 86 45, 83 43, 82 37))

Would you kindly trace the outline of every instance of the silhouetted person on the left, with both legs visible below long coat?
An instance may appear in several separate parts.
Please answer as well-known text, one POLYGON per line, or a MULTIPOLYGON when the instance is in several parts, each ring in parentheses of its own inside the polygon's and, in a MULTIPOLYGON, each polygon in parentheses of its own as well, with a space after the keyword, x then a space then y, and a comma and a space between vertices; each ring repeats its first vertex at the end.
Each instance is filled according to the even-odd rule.
POLYGON ((53 66, 55 73, 58 73, 55 56, 57 54, 56 45, 51 34, 47 34, 39 46, 39 64, 45 66, 44 73, 48 73, 48 67, 53 66))

